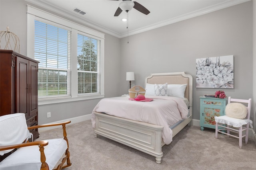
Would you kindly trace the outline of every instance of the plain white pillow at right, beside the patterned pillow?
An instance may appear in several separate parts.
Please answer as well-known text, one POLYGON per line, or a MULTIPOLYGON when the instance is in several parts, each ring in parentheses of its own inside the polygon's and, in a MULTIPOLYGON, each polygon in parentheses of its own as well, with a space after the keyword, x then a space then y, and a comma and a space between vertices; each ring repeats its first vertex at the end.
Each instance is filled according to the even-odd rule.
POLYGON ((168 84, 167 94, 168 96, 173 96, 177 98, 184 98, 185 97, 185 90, 187 84, 168 84))

